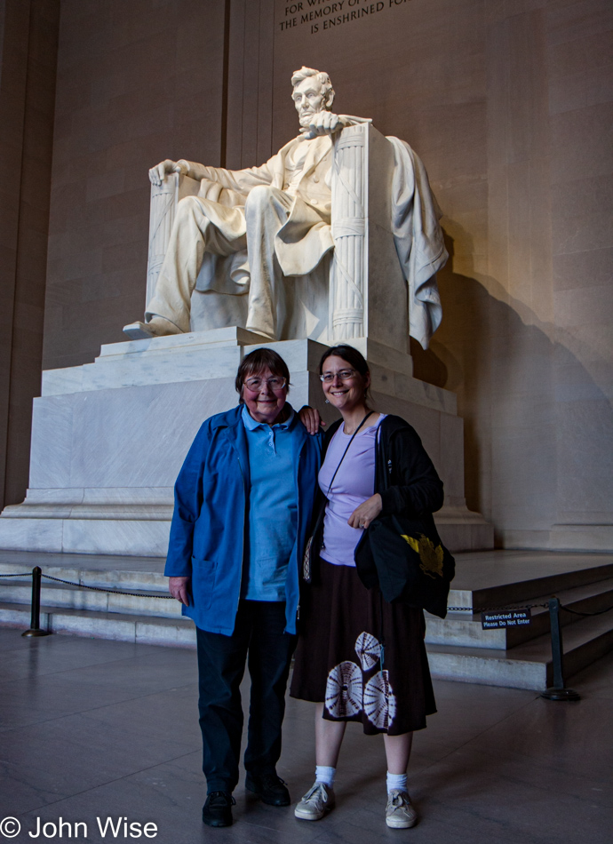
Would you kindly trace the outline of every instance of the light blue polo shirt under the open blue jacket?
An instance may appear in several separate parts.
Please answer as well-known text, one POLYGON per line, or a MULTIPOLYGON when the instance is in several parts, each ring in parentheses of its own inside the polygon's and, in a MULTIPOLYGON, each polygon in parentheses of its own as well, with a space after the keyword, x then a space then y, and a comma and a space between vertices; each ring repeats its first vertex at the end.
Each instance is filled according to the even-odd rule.
POLYGON ((251 490, 241 597, 249 601, 285 601, 298 529, 294 417, 291 410, 285 422, 270 426, 256 422, 243 407, 251 490))

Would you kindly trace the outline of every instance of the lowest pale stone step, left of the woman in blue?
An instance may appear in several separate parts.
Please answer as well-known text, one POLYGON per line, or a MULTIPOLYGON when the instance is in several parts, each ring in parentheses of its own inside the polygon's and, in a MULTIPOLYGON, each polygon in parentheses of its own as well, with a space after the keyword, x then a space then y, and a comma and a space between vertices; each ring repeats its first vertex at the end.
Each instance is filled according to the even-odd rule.
MULTIPOLYGON (((179 606, 179 603, 176 603, 179 606)), ((0 602, 0 626, 28 630, 29 625, 29 608, 23 604, 0 602)), ((181 616, 162 618, 118 612, 47 608, 41 609, 40 626, 49 633, 135 641, 172 648, 195 648, 194 623, 181 616)))

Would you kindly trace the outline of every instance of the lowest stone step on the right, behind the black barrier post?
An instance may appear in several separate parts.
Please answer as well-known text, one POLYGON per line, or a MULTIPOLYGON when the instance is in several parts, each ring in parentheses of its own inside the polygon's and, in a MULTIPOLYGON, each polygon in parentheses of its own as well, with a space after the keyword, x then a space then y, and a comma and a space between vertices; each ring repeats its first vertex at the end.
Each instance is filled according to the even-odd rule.
MULTIPOLYGON (((613 647, 613 611, 583 618, 564 629, 564 679, 604 656, 613 647)), ((542 691, 553 684, 551 636, 518 645, 516 648, 462 648, 427 645, 433 677, 439 680, 482 683, 512 689, 542 691)))

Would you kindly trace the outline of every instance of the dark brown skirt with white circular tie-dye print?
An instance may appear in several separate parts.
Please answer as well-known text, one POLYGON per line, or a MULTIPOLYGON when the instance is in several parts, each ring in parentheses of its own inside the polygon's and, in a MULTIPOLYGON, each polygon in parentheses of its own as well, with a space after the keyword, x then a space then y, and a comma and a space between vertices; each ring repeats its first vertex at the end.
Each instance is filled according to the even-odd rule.
POLYGON ((320 559, 300 598, 290 695, 368 734, 424 729, 436 712, 425 633, 421 609, 386 603, 356 569, 320 559))

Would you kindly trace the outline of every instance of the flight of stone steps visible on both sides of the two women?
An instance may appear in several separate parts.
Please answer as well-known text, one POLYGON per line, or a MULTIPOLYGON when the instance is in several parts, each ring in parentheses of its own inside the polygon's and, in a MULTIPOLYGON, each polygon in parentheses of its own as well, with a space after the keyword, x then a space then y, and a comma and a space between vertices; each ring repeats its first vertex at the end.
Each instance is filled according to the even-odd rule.
MULTIPOLYGON (((605 554, 484 552, 457 555, 457 588, 450 606, 468 608, 545 603, 552 593, 579 611, 607 609, 613 603, 613 560, 605 554)), ((179 603, 161 601, 167 578, 163 561, 151 557, 67 553, 0 552, 0 625, 29 627, 31 578, 44 574, 79 584, 145 593, 143 597, 98 593, 43 580, 41 626, 68 633, 147 644, 195 646, 195 628, 180 616, 179 603)), ((562 612, 566 673, 571 676, 613 644, 613 612, 581 618, 562 612)), ((482 631, 480 617, 450 613, 445 621, 428 617, 427 649, 435 676, 456 681, 544 689, 551 682, 551 639, 545 608, 533 610, 532 624, 519 629, 482 631), (529 640, 529 641, 528 641, 529 640)))

